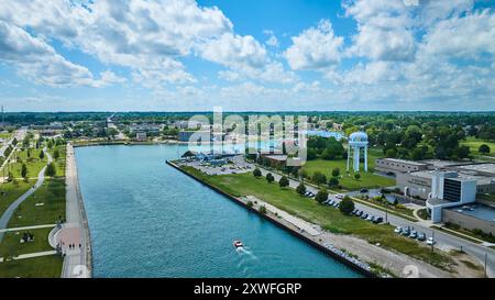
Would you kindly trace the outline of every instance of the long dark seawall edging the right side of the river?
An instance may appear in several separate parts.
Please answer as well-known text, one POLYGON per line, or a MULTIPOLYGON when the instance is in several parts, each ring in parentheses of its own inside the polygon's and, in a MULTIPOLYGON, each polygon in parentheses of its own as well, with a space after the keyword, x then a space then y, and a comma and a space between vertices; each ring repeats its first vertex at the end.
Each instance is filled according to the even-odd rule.
POLYGON ((189 176, 190 178, 197 180, 198 182, 207 186, 208 188, 212 189, 213 191, 227 197, 228 199, 232 200, 233 202, 235 202, 237 204, 240 204, 241 207, 250 210, 251 212, 254 212, 256 214, 258 214, 260 216, 264 218, 265 220, 268 220, 270 222, 272 222, 273 224, 275 224, 276 226, 287 231, 288 233, 293 234, 294 236, 299 237, 300 240, 305 241, 306 243, 310 244, 311 246, 318 248, 319 251, 323 252, 324 254, 331 256, 333 259, 346 265, 348 267, 352 268, 353 270, 366 276, 366 277, 372 277, 375 278, 377 277, 374 273, 362 268, 361 266, 343 258, 342 256, 337 255, 336 253, 331 252, 330 249, 328 249, 327 247, 324 247, 322 244, 318 243, 317 241, 314 241, 311 237, 305 235, 304 233, 298 232, 294 226, 292 226, 289 223, 285 223, 282 220, 277 219, 276 216, 272 216, 268 214, 264 214, 261 213, 260 211, 257 211, 256 209, 249 207, 243 200, 235 198, 220 189, 218 189, 217 187, 211 186, 210 184, 205 182, 204 180, 201 180, 200 178, 197 178, 196 176, 194 176, 193 174, 189 174, 185 170, 183 170, 180 167, 178 167, 177 165, 175 165, 172 162, 166 162, 167 165, 172 166, 173 168, 177 169, 178 171, 189 176))

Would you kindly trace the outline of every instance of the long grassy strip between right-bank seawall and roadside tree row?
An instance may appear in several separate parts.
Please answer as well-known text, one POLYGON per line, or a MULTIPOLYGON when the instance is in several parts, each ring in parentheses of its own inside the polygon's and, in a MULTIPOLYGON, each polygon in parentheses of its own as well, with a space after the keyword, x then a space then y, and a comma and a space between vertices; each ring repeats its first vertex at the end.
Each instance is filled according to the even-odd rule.
POLYGON ((184 169, 229 195, 255 196, 293 215, 319 224, 332 233, 353 234, 372 244, 380 243, 383 247, 407 254, 443 269, 449 269, 453 264, 448 255, 439 252, 431 253, 429 247, 395 234, 389 225, 375 225, 359 218, 346 216, 334 208, 300 197, 294 189, 280 189, 277 184, 267 184, 264 178, 256 179, 252 174, 207 176, 190 167, 184 169))

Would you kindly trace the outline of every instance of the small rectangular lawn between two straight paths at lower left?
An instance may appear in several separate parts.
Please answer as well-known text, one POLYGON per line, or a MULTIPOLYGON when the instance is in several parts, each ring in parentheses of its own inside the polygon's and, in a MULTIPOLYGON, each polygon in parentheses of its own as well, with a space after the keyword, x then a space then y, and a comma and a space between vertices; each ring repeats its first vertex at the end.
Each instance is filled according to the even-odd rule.
POLYGON ((2 242, 0 243, 0 257, 9 255, 21 255, 36 252, 53 251, 48 244, 48 233, 52 229, 37 229, 30 231, 8 232, 4 234, 2 242), (31 233, 34 235, 33 243, 20 243, 24 233, 31 233))

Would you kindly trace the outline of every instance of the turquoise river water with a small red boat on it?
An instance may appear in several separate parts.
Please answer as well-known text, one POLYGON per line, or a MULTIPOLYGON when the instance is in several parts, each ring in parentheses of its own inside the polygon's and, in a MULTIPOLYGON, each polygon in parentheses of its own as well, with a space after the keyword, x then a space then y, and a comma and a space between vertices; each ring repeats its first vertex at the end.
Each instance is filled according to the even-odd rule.
POLYGON ((184 151, 76 148, 95 277, 360 277, 165 164, 184 151))

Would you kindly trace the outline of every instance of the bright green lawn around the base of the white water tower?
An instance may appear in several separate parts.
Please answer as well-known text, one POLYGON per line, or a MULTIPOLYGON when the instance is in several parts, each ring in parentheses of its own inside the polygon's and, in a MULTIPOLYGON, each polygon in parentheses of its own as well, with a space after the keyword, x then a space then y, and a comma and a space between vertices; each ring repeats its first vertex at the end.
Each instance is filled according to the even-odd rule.
POLYGON ((354 178, 354 171, 350 171, 349 175, 345 173, 346 160, 345 159, 337 159, 337 160, 324 160, 324 159, 315 159, 308 160, 304 166, 311 176, 315 171, 320 171, 327 176, 327 178, 331 177, 331 171, 334 168, 340 168, 341 177, 339 178, 340 185, 346 190, 358 190, 361 188, 375 188, 375 187, 391 187, 395 185, 395 180, 374 175, 373 168, 375 167, 375 159, 383 157, 382 151, 377 148, 371 148, 367 152, 367 163, 369 163, 369 173, 360 171, 361 178, 356 180, 354 178))

